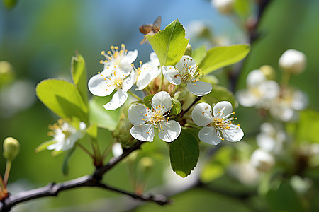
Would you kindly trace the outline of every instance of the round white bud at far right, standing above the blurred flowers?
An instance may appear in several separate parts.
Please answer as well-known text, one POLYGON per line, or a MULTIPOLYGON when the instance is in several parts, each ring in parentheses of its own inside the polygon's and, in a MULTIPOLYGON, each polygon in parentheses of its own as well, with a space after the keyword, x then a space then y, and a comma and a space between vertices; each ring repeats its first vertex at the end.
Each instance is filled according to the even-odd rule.
POLYGON ((279 66, 286 72, 298 74, 306 69, 306 54, 295 49, 288 49, 279 58, 279 66))

